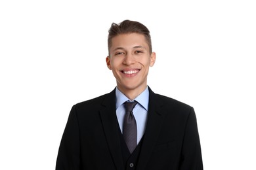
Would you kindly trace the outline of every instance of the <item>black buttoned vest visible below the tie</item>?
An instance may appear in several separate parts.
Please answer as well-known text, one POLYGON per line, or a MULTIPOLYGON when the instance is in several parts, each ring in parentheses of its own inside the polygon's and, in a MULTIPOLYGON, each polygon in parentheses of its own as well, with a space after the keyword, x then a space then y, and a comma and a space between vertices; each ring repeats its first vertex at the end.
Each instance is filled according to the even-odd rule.
POLYGON ((135 170, 137 169, 137 162, 139 160, 139 155, 140 155, 140 148, 142 145, 143 138, 140 139, 139 144, 135 148, 132 154, 130 154, 127 145, 125 143, 125 140, 123 139, 123 134, 121 131, 119 131, 119 138, 120 138, 120 143, 121 143, 121 152, 123 156, 123 165, 125 167, 125 170, 135 170))

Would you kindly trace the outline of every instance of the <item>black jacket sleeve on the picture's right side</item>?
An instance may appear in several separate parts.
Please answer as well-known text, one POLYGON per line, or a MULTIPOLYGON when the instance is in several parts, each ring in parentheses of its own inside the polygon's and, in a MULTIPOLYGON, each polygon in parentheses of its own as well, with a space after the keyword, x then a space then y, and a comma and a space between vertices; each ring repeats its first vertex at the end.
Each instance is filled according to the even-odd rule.
POLYGON ((198 126, 196 122, 196 114, 191 108, 190 114, 186 121, 186 129, 184 132, 180 170, 202 170, 202 153, 200 146, 200 138, 198 134, 198 126))

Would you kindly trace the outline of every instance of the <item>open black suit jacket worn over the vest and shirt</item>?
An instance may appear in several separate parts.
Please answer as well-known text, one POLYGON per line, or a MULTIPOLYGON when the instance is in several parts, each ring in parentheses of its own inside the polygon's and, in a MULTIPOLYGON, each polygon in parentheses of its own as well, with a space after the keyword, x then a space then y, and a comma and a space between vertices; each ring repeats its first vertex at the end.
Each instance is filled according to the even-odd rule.
MULTIPOLYGON (((202 154, 194 109, 150 90, 148 120, 137 170, 201 170, 202 154)), ((116 93, 72 107, 56 170, 123 170, 116 93)))

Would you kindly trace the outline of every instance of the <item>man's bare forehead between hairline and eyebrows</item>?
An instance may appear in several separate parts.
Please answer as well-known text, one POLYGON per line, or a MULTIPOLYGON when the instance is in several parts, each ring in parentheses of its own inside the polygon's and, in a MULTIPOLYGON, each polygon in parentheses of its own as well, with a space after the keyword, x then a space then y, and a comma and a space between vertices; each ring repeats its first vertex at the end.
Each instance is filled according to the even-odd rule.
POLYGON ((143 46, 146 49, 149 48, 144 35, 139 33, 129 33, 113 37, 110 50, 115 48, 133 48, 133 46, 143 46))

